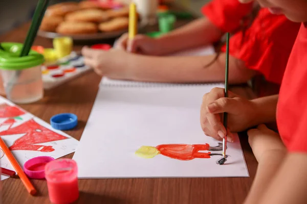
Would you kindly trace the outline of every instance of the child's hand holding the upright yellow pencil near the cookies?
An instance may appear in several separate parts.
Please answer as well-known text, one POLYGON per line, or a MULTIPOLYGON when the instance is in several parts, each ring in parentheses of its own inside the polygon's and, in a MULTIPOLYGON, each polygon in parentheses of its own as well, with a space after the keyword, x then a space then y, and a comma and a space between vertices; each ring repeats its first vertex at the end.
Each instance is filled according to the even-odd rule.
POLYGON ((156 39, 145 35, 136 35, 133 40, 128 39, 128 34, 123 34, 115 45, 116 48, 127 50, 130 53, 143 55, 160 55, 160 44, 156 39))

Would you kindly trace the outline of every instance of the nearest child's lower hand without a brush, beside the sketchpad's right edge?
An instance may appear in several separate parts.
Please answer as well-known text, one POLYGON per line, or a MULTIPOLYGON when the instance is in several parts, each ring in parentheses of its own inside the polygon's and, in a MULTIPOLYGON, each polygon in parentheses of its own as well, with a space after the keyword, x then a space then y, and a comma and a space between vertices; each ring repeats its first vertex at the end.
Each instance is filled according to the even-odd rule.
POLYGON ((257 129, 251 129, 247 134, 249 136, 248 141, 258 162, 265 154, 274 154, 276 150, 286 151, 280 136, 268 129, 265 124, 258 125, 257 129))

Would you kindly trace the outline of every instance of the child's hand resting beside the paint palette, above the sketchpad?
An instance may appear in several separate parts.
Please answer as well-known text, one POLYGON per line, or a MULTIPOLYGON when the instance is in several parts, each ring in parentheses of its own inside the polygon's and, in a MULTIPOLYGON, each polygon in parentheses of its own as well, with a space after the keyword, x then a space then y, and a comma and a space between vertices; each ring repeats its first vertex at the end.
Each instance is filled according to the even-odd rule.
POLYGON ((104 75, 113 79, 125 79, 128 68, 127 60, 130 55, 121 49, 98 50, 83 47, 81 50, 84 57, 84 64, 90 66, 99 75, 104 75))

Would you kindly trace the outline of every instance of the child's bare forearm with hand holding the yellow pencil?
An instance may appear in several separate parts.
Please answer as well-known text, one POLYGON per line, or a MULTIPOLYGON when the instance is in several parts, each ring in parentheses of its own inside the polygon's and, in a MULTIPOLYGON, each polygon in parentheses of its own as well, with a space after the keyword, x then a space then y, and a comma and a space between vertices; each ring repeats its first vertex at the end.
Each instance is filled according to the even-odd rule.
POLYGON ((203 17, 156 39, 137 35, 133 40, 128 40, 128 35, 124 34, 115 46, 133 53, 167 55, 191 47, 212 44, 222 35, 219 28, 203 17))

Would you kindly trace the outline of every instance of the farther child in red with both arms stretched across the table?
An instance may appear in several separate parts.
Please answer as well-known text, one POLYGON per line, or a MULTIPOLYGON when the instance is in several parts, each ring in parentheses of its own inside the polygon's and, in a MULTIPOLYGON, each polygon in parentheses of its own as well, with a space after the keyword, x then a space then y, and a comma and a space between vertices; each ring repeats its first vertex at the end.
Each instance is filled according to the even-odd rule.
POLYGON ((225 77, 225 46, 216 60, 216 55, 162 55, 210 45, 220 40, 225 32, 231 32, 229 83, 246 83, 259 73, 270 82, 281 83, 299 23, 291 22, 283 15, 273 15, 268 9, 260 9, 250 22, 253 4, 240 4, 237 0, 214 0, 202 11, 206 17, 157 39, 137 35, 129 41, 127 35, 123 35, 117 43, 117 47, 122 49, 104 52, 84 47, 85 63, 98 73, 114 79, 222 82, 225 77), (132 53, 125 52, 126 49, 132 53), (143 55, 133 54, 136 52, 143 55))

